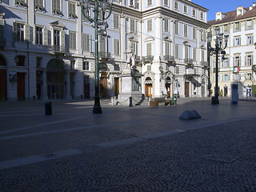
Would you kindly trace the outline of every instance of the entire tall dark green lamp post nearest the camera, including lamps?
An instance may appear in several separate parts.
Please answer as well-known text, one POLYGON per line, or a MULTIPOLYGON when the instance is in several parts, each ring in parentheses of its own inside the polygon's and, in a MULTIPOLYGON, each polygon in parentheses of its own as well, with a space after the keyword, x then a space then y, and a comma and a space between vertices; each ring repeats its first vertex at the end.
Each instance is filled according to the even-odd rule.
POLYGON ((94 114, 102 114, 102 107, 100 104, 100 97, 98 94, 98 86, 99 86, 99 77, 98 77, 98 30, 102 30, 101 27, 108 27, 106 22, 107 18, 110 18, 111 10, 112 10, 112 0, 94 0, 94 18, 90 17, 90 0, 80 0, 82 14, 89 20, 89 22, 94 22, 95 29, 95 97, 94 97, 94 114), (106 7, 109 6, 109 13, 106 15, 106 7), (98 8, 101 8, 100 10, 98 8), (102 12, 102 18, 98 17, 98 14, 102 12))

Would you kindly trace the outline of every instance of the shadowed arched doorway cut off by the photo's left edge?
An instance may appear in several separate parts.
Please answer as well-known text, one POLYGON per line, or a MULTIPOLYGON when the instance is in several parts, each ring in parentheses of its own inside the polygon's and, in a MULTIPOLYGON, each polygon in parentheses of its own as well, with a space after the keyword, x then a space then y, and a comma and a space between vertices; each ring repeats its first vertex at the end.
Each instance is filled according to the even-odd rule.
POLYGON ((0 55, 0 101, 7 100, 6 60, 0 55))

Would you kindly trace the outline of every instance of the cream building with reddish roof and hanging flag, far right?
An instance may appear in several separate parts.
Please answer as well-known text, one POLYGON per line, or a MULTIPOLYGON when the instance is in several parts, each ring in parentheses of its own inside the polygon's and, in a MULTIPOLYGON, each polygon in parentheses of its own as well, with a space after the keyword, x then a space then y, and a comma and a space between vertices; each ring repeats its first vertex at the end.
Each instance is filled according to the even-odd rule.
MULTIPOLYGON (((236 10, 222 14, 216 13, 216 19, 208 22, 215 33, 216 27, 223 34, 229 34, 226 47, 226 59, 218 61, 218 89, 221 96, 230 96, 232 83, 238 84, 240 97, 250 97, 251 87, 255 84, 254 65, 256 54, 254 37, 256 35, 256 3, 250 7, 239 6, 236 10)), ((214 41, 214 40, 213 40, 214 41)), ((214 43, 214 42, 213 42, 214 43)), ((215 85, 215 58, 210 57, 210 82, 212 91, 215 85)))

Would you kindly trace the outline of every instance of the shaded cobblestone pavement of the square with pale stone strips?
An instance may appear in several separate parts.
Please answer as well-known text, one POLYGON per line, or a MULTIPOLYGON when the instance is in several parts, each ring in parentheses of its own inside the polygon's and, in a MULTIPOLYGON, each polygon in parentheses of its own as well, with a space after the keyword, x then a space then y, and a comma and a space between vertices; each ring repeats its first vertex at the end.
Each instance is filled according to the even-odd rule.
POLYGON ((0 103, 0 191, 256 191, 256 102, 42 104, 0 103))

